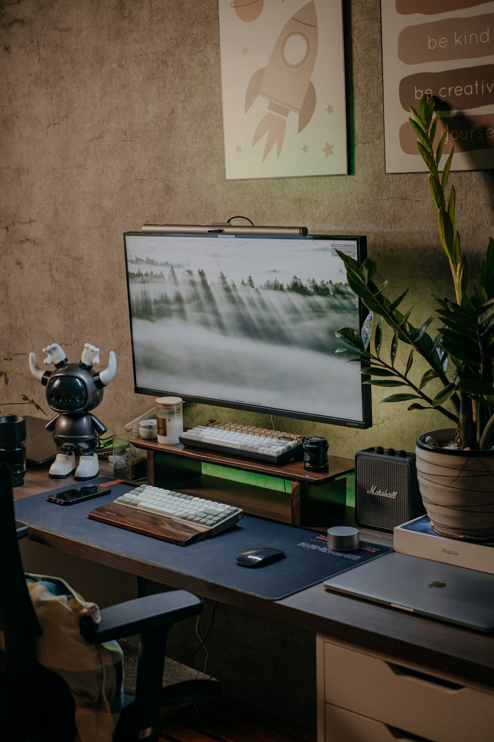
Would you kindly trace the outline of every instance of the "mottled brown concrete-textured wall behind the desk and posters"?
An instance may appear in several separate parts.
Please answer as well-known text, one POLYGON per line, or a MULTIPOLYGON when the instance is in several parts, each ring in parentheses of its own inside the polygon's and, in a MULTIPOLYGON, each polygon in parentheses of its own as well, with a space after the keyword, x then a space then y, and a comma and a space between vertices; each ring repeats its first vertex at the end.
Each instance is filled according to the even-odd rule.
MULTIPOLYGON (((395 295, 410 285, 412 321, 427 318, 451 281, 426 176, 384 173, 379 1, 344 0, 344 15, 353 174, 227 181, 216 0, 2 2, 1 355, 35 350, 41 361, 41 349, 56 341, 76 361, 90 341, 104 363, 114 349, 117 376, 97 414, 119 432, 153 404, 133 393, 122 233, 235 214, 367 234, 380 277, 393 280, 395 295)), ((492 173, 453 181, 457 225, 475 263, 492 223, 492 173)), ((19 393, 41 400, 27 358, 18 366, 0 401, 19 393)), ((367 431, 275 423, 327 436, 343 456, 373 444, 410 450, 416 433, 442 427, 435 413, 378 404, 381 396, 373 395, 367 431)), ((185 419, 220 414, 239 417, 188 405, 185 419)))

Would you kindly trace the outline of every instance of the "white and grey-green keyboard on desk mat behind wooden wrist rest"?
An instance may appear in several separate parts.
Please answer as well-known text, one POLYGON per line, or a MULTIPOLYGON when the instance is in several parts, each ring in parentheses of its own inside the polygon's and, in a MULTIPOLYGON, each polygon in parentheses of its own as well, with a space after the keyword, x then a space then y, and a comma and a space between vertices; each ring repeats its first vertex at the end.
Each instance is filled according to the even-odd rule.
POLYGON ((209 529, 209 536, 218 536, 236 525, 243 515, 243 510, 232 505, 151 485, 139 485, 113 502, 170 520, 196 523, 209 529))

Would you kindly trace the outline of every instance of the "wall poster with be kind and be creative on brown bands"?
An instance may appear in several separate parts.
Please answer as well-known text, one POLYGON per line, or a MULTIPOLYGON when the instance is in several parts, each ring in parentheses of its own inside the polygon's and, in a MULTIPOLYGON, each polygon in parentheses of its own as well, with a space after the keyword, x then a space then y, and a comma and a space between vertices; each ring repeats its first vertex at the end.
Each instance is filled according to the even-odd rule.
POLYGON ((494 167, 494 2, 381 0, 387 173, 424 172, 408 122, 424 93, 448 127, 440 167, 494 167))

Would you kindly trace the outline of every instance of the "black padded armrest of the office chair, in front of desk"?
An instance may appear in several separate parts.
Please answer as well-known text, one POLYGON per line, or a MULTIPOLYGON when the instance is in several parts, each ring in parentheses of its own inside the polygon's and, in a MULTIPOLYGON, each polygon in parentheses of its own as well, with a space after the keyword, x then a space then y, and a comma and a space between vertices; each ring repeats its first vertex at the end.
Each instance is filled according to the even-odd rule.
POLYGON ((200 598, 185 590, 173 590, 103 608, 100 623, 94 624, 89 616, 83 616, 79 626, 84 639, 98 644, 149 630, 166 631, 176 621, 201 611, 200 598))

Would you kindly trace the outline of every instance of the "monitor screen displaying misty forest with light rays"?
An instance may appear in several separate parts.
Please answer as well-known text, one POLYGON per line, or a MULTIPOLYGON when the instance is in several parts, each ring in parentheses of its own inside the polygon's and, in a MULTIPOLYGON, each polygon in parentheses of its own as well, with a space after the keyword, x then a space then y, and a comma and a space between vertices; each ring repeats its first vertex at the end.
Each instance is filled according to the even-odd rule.
POLYGON ((367 314, 336 253, 364 259, 365 237, 176 229, 124 234, 136 392, 370 427, 335 335, 367 314))

